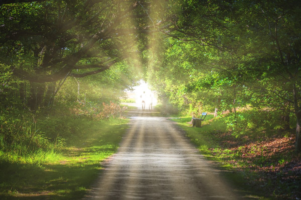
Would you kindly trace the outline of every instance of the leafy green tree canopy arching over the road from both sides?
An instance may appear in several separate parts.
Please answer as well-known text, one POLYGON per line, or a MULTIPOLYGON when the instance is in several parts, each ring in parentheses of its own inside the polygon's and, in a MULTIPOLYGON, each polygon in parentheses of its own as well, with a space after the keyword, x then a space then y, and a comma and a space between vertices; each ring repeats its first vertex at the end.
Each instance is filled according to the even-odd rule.
POLYGON ((290 128, 293 118, 300 151, 300 7, 294 0, 2 1, 2 73, 14 77, 20 99, 29 90, 32 109, 50 105, 69 79, 101 81, 119 69, 126 81, 112 84, 124 89, 144 74, 180 111, 229 110, 237 135, 248 130, 237 108, 277 112, 284 123, 275 129, 290 128))

